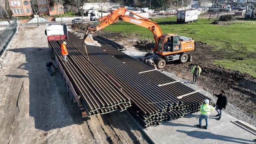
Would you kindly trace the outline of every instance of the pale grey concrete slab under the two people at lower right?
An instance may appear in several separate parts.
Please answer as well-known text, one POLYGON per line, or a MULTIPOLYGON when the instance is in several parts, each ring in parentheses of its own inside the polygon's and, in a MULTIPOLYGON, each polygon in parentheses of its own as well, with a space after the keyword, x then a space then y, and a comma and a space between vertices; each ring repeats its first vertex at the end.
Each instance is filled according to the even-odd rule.
MULTIPOLYGON (((221 120, 217 121, 216 114, 216 111, 212 112, 207 130, 196 127, 196 124, 199 124, 196 119, 200 115, 198 112, 156 127, 149 127, 144 132, 156 144, 256 143, 253 141, 256 139, 255 135, 231 123, 237 120, 235 117, 223 112, 221 120)), ((204 120, 202 124, 205 125, 204 120)))

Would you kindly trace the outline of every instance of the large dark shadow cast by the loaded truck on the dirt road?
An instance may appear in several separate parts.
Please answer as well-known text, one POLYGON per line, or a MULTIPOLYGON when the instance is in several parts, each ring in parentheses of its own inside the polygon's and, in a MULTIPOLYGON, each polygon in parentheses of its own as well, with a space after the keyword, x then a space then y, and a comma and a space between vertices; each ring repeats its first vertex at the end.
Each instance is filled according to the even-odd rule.
MULTIPOLYGON (((50 77, 46 70, 46 63, 51 59, 48 47, 15 48, 10 51, 26 56, 26 62, 17 69, 27 70, 28 76, 6 76, 29 78, 29 116, 34 117, 36 129, 50 131, 84 123, 77 104, 69 100, 60 72, 50 77)), ((57 67, 55 60, 53 63, 57 67)))

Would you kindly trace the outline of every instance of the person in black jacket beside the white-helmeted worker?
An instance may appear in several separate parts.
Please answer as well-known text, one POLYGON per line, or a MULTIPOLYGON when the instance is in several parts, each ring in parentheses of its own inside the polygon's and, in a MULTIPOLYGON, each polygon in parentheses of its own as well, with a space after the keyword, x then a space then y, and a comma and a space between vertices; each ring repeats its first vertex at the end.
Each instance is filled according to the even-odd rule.
POLYGON ((226 108, 227 104, 228 104, 228 98, 225 96, 225 92, 224 91, 221 91, 220 94, 213 94, 215 95, 218 100, 216 102, 216 111, 218 112, 218 115, 216 116, 219 116, 219 118, 217 120, 220 120, 221 119, 221 115, 222 115, 222 110, 226 108))

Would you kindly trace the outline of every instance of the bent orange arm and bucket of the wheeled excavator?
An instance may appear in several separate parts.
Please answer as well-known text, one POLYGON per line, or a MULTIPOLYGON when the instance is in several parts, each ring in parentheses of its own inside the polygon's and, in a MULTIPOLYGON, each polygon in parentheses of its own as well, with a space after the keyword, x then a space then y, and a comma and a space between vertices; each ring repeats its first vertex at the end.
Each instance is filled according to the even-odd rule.
POLYGON ((92 33, 111 25, 118 20, 123 20, 123 21, 129 22, 129 23, 132 23, 132 24, 144 27, 144 28, 148 28, 154 35, 154 39, 155 39, 156 47, 157 47, 158 40, 159 40, 160 36, 163 35, 162 29, 159 27, 159 25, 156 22, 151 21, 147 18, 144 18, 132 11, 129 11, 129 12, 138 16, 140 19, 126 16, 125 12, 127 12, 127 11, 128 10, 126 8, 119 8, 119 9, 111 12, 107 16, 103 17, 95 24, 93 24, 91 27, 89 27, 87 29, 87 31, 85 33, 84 43, 85 44, 93 43, 93 42, 91 42, 91 40, 92 40, 91 34, 92 33), (99 22, 100 22, 100 24, 98 26, 94 27, 99 22))

